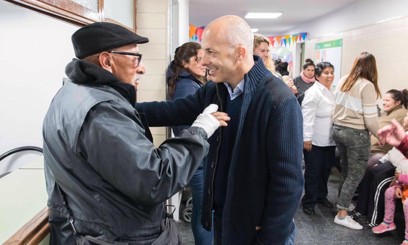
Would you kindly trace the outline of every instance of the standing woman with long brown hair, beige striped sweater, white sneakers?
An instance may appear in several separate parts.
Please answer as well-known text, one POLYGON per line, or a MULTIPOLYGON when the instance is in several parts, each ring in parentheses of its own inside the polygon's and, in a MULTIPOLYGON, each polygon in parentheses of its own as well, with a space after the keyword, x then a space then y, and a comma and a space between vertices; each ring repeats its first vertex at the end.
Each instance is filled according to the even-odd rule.
POLYGON ((340 151, 341 176, 339 211, 334 223, 356 230, 363 226, 347 216, 347 211, 354 210, 351 199, 367 168, 369 132, 377 137, 379 129, 376 100, 381 93, 377 78, 374 56, 363 52, 357 56, 350 73, 340 79, 335 91, 332 136, 340 151))

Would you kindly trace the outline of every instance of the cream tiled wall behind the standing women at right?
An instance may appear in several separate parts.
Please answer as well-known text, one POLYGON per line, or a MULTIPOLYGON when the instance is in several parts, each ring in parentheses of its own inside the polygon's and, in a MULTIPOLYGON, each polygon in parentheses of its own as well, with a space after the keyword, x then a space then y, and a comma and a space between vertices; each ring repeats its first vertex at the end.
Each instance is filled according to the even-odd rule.
MULTIPOLYGON (((377 61, 382 95, 390 89, 408 89, 408 17, 308 40, 305 57, 314 57, 315 43, 337 39, 343 39, 341 76, 348 74, 357 55, 366 51, 377 61)), ((382 107, 381 99, 377 103, 382 107)))

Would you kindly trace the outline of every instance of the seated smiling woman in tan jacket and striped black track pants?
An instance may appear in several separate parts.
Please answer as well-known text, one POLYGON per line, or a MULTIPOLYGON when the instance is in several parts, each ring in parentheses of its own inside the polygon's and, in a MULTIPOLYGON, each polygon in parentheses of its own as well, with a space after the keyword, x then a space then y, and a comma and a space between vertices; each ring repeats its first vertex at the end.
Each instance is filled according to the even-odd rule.
MULTIPOLYGON (((379 118, 380 127, 391 125, 392 120, 397 120, 404 125, 404 118, 408 113, 407 106, 407 89, 387 91, 383 102, 385 114, 379 118)), ((384 193, 394 177, 396 166, 401 162, 401 154, 391 149, 392 146, 388 143, 381 144, 377 138, 371 136, 371 154, 368 159, 368 169, 361 182, 359 199, 356 211, 353 214, 354 219, 366 215, 370 227, 374 227, 383 221, 384 193)))

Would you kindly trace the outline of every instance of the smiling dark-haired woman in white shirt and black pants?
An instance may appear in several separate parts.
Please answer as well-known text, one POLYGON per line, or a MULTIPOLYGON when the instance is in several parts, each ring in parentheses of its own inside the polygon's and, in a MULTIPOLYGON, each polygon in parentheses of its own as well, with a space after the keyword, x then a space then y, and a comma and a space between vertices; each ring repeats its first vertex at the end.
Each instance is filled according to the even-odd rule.
POLYGON ((315 214, 317 203, 333 207, 327 200, 327 181, 334 164, 336 143, 332 139, 334 112, 334 66, 320 62, 316 82, 305 92, 302 102, 303 155, 305 159, 305 195, 303 212, 315 214))

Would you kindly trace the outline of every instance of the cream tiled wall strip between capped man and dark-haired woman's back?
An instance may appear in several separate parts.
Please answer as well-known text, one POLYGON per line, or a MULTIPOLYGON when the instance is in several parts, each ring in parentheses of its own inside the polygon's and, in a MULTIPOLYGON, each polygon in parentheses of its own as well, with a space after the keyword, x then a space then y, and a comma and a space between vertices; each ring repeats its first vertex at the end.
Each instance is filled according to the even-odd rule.
MULTIPOLYGON (((149 38, 140 44, 146 74, 137 86, 137 102, 166 100, 166 68, 168 59, 169 0, 136 1, 136 33, 149 38)), ((165 127, 150 128, 154 143, 159 146, 166 139, 165 127)))

